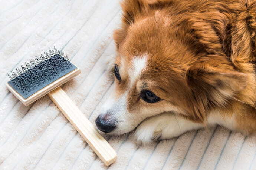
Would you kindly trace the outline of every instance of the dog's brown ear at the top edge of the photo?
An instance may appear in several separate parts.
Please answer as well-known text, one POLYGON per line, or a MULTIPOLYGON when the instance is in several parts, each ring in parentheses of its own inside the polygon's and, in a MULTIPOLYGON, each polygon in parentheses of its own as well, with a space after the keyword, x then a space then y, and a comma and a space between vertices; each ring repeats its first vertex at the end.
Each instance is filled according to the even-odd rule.
POLYGON ((133 24, 139 14, 145 13, 149 9, 149 4, 146 0, 124 0, 121 3, 122 7, 122 23, 119 29, 114 31, 114 40, 116 47, 124 40, 129 25, 133 24))

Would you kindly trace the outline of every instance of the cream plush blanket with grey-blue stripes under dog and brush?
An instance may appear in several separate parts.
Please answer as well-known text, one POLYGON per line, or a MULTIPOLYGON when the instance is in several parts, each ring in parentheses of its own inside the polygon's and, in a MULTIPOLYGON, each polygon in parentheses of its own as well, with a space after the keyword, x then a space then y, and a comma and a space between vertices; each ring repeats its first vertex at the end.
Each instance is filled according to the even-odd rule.
POLYGON ((120 15, 118 0, 0 0, 0 169, 256 169, 256 136, 219 126, 147 146, 105 136, 118 154, 106 167, 49 97, 25 107, 7 90, 10 70, 56 47, 82 70, 63 90, 95 124, 120 15))

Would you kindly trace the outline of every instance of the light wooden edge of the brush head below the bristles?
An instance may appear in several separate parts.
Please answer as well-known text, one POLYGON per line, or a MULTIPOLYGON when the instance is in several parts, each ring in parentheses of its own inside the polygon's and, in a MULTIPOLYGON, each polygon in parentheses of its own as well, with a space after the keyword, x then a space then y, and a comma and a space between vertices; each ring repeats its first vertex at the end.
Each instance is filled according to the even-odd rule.
POLYGON ((45 96, 50 91, 56 89, 57 87, 61 86, 62 84, 66 83, 67 81, 73 79, 73 77, 77 76, 81 73, 80 69, 75 69, 70 73, 60 77, 58 80, 53 81, 51 84, 43 87, 41 90, 37 91, 36 93, 32 94, 28 98, 22 97, 15 89, 12 88, 8 83, 6 83, 7 88, 16 96, 25 106, 33 103, 34 101, 40 99, 41 97, 45 96))

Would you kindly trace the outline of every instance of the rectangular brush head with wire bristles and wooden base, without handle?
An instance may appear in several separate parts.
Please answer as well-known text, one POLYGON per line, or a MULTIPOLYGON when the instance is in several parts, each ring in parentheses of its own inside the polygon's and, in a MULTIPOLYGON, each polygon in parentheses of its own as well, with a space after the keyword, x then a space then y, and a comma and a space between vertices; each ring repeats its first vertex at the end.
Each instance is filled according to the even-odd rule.
POLYGON ((27 106, 80 72, 62 51, 49 50, 11 71, 7 87, 27 106))

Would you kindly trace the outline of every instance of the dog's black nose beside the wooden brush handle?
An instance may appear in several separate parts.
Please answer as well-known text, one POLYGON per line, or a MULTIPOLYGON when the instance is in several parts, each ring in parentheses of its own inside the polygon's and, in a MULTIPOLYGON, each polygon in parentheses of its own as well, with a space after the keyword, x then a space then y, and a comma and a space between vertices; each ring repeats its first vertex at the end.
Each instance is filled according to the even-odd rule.
POLYGON ((99 115, 95 120, 96 126, 100 131, 103 131, 105 133, 109 133, 115 129, 115 123, 112 123, 109 120, 102 119, 102 116, 99 115))

